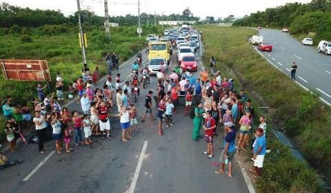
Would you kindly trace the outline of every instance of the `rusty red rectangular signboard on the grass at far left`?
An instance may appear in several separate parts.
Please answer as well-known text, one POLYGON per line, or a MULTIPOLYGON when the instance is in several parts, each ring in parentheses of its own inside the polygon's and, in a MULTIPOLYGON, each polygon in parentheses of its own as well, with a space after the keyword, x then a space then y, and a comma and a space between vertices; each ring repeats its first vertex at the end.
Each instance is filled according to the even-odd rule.
POLYGON ((51 81, 46 60, 0 60, 3 77, 15 81, 51 81))

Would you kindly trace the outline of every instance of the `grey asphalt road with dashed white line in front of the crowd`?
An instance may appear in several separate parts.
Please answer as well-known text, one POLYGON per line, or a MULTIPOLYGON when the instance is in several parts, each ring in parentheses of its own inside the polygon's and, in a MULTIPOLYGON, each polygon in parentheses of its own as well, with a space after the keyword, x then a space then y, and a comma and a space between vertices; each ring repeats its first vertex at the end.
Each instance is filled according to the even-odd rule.
MULTIPOLYGON (((199 59, 201 53, 197 52, 199 59)), ((121 77, 128 77, 134 59, 123 63, 121 77)), ((175 54, 171 63, 171 68, 177 63, 175 54)), ((136 103, 139 112, 150 89, 156 89, 156 77, 148 89, 141 90, 136 103)), ((68 108, 80 110, 75 101, 68 108)), ((118 120, 111 123, 112 139, 94 138, 92 148, 81 145, 70 154, 56 154, 54 141, 48 141, 44 155, 33 144, 8 152, 10 159, 23 159, 23 163, 0 171, 1 192, 249 192, 237 162, 232 178, 214 173, 217 167, 211 162, 219 161, 221 135, 214 139, 214 159, 208 159, 203 155, 205 142, 192 141, 192 119, 183 116, 183 109, 174 115, 174 126, 164 128, 163 136, 157 134, 157 121, 146 117, 141 123, 140 116, 140 132, 134 132, 128 143, 120 141, 118 120)))

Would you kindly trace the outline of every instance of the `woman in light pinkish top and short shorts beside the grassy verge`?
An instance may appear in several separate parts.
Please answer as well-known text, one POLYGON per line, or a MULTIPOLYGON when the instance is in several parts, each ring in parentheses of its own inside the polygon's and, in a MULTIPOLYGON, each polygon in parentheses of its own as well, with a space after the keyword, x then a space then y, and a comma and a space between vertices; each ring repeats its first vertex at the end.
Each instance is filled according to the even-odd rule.
POLYGON ((240 130, 239 130, 239 141, 237 144, 237 153, 239 153, 239 150, 246 151, 244 148, 245 141, 248 138, 248 133, 250 132, 250 111, 247 110, 243 116, 241 116, 241 119, 239 121, 240 130), (240 148, 240 149, 239 149, 240 148))

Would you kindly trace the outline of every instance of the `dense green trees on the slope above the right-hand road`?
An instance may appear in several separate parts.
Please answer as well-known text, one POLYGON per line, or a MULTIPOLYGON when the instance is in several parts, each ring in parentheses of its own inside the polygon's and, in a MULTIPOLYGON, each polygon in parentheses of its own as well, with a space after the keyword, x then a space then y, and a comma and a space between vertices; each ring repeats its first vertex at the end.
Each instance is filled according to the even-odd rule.
POLYGON ((288 27, 292 34, 316 33, 317 39, 331 39, 331 0, 287 3, 234 21, 233 26, 288 27))

